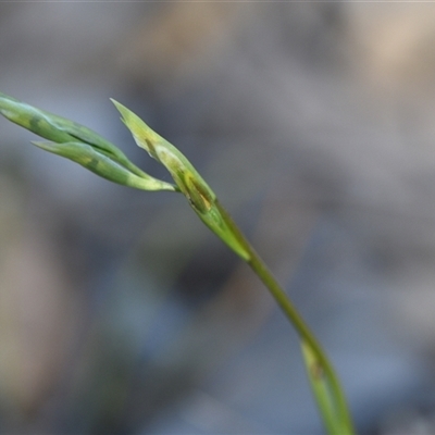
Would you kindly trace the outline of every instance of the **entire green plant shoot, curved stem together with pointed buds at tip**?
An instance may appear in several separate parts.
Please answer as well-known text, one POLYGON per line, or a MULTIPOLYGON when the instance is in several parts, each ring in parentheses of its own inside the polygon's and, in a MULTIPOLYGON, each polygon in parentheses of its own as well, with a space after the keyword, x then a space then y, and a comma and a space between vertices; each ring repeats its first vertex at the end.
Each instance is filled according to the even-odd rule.
POLYGON ((297 331, 311 389, 327 433, 353 434, 344 391, 325 351, 264 262, 217 201, 213 190, 177 148, 153 132, 130 110, 112 101, 136 144, 167 169, 175 185, 146 174, 114 145, 91 129, 1 92, 0 113, 49 140, 34 141, 37 147, 71 159, 107 179, 142 190, 182 192, 199 219, 250 265, 297 331))

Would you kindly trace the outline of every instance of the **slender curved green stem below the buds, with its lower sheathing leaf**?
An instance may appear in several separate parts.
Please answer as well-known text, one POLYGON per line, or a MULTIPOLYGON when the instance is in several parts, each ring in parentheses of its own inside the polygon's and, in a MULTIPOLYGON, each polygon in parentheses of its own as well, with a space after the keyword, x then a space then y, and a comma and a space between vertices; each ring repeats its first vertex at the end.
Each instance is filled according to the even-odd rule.
POLYGON ((249 252, 247 263, 270 290, 301 339, 308 376, 327 433, 331 435, 355 434, 345 394, 322 346, 227 211, 219 201, 215 204, 237 240, 249 252))

